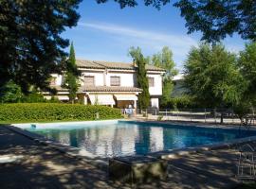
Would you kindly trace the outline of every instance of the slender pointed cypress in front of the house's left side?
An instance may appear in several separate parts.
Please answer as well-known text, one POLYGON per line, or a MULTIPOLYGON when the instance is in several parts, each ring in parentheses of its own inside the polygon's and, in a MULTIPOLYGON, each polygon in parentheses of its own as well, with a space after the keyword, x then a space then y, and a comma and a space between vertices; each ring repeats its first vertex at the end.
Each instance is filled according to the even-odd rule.
POLYGON ((68 89, 69 101, 74 103, 79 88, 78 76, 80 75, 76 66, 76 56, 73 43, 70 46, 69 59, 65 71, 64 88, 68 89))

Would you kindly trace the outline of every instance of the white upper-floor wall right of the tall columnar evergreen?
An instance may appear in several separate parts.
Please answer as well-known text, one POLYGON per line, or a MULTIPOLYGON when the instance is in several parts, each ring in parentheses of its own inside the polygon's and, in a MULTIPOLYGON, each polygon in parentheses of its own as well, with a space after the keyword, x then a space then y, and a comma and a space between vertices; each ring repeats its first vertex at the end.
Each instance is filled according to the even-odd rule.
POLYGON ((150 95, 162 95, 162 76, 160 74, 147 74, 147 77, 154 77, 154 87, 149 87, 150 95))

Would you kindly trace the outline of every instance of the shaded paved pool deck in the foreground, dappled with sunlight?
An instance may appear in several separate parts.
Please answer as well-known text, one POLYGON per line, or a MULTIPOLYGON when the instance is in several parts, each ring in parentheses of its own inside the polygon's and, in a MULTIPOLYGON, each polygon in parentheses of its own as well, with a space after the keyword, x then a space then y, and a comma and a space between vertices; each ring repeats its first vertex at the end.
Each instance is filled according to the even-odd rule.
MULTIPOLYGON (((232 188, 238 152, 218 149, 177 156, 168 161, 168 179, 134 188, 232 188)), ((82 163, 64 153, 0 126, 0 188, 131 188, 108 179, 107 170, 82 163), (1 158, 12 157, 12 163, 1 158)))

